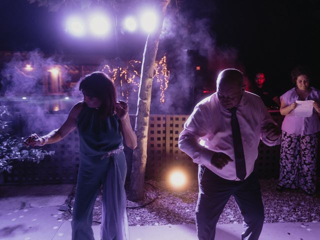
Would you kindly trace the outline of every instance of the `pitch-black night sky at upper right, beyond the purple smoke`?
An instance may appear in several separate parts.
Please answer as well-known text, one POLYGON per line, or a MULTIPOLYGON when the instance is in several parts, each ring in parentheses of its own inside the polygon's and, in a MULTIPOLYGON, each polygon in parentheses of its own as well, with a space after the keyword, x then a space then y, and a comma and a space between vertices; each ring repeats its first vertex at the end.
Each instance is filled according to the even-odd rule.
MULTIPOLYGON (((196 16, 211 16, 210 29, 216 44, 235 47, 249 76, 265 71, 279 88, 287 88, 292 67, 304 64, 310 67, 313 78, 317 77, 319 1, 214 0, 209 7, 208 1, 198 2, 193 8, 196 16)), ((318 87, 317 82, 313 84, 318 87)))

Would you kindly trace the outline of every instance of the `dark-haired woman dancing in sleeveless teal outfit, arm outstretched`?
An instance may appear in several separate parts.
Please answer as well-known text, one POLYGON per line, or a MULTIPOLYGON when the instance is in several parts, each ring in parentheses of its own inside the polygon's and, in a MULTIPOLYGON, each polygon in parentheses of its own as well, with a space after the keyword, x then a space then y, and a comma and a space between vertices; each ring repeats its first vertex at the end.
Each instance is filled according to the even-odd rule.
POLYGON ((93 240, 92 210, 102 184, 102 240, 128 239, 125 211, 124 180, 126 161, 122 140, 136 147, 136 135, 131 128, 128 105, 116 102, 113 82, 103 72, 86 75, 79 85, 83 101, 70 110, 65 122, 46 135, 33 133, 26 145, 55 143, 78 129, 80 166, 72 210, 72 240, 93 240))

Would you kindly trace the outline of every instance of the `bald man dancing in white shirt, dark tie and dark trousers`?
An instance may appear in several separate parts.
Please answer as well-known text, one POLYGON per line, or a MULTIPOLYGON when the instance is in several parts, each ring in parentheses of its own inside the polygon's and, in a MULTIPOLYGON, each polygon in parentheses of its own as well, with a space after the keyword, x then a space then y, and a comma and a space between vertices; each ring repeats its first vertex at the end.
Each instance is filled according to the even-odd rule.
POLYGON ((217 92, 201 100, 184 123, 179 148, 199 164, 196 227, 213 240, 218 218, 232 195, 243 215, 241 239, 258 239, 264 219, 260 185, 253 173, 260 139, 280 143, 280 130, 261 98, 244 91, 243 75, 224 69, 217 92))

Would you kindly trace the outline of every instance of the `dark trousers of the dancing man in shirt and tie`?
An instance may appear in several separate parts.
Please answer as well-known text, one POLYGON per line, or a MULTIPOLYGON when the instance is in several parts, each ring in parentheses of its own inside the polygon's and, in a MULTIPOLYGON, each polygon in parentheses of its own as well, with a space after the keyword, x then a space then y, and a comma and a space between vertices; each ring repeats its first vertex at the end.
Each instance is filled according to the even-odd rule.
POLYGON ((264 208, 260 185, 254 173, 243 181, 227 180, 199 165, 198 181, 199 195, 195 216, 199 240, 214 239, 216 223, 230 196, 234 197, 243 216, 241 239, 259 238, 264 220, 264 208))

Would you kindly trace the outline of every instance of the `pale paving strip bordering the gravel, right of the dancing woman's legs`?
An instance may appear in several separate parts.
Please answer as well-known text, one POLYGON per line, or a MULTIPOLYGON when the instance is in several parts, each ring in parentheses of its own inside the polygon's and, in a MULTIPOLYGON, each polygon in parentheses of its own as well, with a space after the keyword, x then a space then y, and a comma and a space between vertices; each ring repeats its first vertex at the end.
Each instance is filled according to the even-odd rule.
MULTIPOLYGON (((196 240, 195 225, 129 227, 131 240, 196 240)), ((218 224, 215 239, 239 240, 242 224, 218 224)), ((265 223, 260 240, 319 240, 320 223, 265 223), (304 226, 306 226, 304 228, 304 226)), ((98 238, 97 238, 98 239, 98 238)))

